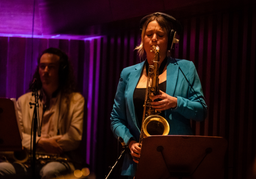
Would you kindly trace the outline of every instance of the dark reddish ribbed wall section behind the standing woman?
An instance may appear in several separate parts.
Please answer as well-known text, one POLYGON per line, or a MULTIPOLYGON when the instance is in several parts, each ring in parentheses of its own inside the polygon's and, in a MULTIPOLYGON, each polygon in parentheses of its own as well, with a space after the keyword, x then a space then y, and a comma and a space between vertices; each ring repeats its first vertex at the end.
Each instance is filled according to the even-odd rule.
MULTIPOLYGON (((255 11, 230 10, 181 22, 183 33, 173 54, 195 64, 208 106, 205 121, 191 121, 194 133, 226 138, 225 178, 246 178, 256 151, 255 11)), ((103 40, 96 152, 99 178, 117 158, 117 140, 108 140, 113 138, 109 117, 122 69, 139 62, 133 51, 139 35, 137 30, 122 31, 103 40)))

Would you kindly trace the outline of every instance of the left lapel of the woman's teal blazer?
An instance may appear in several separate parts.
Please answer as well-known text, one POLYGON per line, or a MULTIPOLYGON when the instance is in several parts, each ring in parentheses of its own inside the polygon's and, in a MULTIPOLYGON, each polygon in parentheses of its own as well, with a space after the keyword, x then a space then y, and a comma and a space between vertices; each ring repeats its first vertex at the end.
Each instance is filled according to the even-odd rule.
MULTIPOLYGON (((138 64, 136 67, 135 67, 135 70, 131 71, 130 75, 129 75, 129 81, 127 83, 127 105, 128 105, 128 108, 130 110, 130 114, 131 114, 131 118, 133 120, 133 122, 135 124, 137 124, 137 127, 138 127, 138 120, 136 118, 136 115, 135 115, 135 108, 134 108, 134 105, 133 105, 133 92, 139 82, 139 79, 140 79, 140 75, 141 75, 141 72, 142 72, 142 69, 143 69, 143 66, 144 66, 144 62, 138 64)), ((139 129, 140 130, 140 129, 139 129)))

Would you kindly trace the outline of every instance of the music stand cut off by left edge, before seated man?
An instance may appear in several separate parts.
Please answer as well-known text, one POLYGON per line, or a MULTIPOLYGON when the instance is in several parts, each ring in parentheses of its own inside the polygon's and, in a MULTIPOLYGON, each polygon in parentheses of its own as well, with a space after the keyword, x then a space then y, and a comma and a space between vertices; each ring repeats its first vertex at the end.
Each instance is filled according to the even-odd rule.
POLYGON ((22 150, 16 99, 0 98, 0 151, 22 150))

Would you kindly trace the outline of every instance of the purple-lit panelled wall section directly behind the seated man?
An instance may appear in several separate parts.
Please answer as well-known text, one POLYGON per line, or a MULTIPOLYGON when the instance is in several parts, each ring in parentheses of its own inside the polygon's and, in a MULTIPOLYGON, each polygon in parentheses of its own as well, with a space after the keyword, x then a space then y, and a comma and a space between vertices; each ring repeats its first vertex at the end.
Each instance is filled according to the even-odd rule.
POLYGON ((66 52, 72 62, 78 90, 85 97, 81 155, 90 164, 95 151, 99 90, 100 38, 85 40, 0 37, 0 97, 18 98, 28 92, 37 67, 37 57, 49 47, 66 52), (33 58, 31 60, 31 55, 33 58))

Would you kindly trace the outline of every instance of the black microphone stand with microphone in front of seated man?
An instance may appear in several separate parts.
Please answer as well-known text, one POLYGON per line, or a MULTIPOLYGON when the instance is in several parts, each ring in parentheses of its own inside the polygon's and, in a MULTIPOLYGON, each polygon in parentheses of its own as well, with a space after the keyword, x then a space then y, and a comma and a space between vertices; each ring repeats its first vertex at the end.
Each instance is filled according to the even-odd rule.
MULTIPOLYGON (((32 150, 32 162, 31 162, 31 169, 32 169, 32 179, 35 178, 35 165, 36 165, 36 131, 38 134, 38 137, 41 136, 41 129, 40 129, 40 123, 39 123, 39 105, 38 105, 38 91, 37 88, 35 86, 32 96, 35 96, 35 103, 31 103, 30 104, 30 108, 32 108, 31 105, 34 105, 34 113, 33 113, 33 150, 32 150)), ((32 129, 31 129, 32 130, 32 129)))

